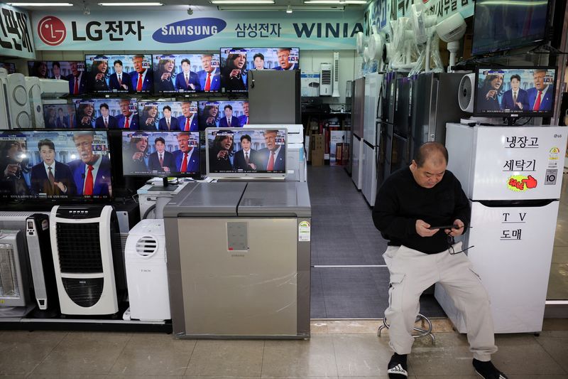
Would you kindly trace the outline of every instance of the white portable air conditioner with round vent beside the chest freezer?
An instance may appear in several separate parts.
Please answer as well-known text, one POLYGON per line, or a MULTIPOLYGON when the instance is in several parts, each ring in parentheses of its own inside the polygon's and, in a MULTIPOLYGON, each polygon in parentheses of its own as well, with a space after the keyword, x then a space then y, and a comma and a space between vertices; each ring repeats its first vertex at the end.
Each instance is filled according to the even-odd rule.
POLYGON ((171 319, 164 221, 141 220, 129 233, 125 255, 131 319, 171 319))

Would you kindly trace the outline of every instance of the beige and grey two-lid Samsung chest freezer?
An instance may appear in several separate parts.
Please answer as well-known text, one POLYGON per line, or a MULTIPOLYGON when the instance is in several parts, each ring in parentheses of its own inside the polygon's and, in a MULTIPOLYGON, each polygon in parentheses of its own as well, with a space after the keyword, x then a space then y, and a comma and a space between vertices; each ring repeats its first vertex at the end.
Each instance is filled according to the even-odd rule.
POLYGON ((199 183, 164 220, 175 336, 310 336, 307 183, 199 183))

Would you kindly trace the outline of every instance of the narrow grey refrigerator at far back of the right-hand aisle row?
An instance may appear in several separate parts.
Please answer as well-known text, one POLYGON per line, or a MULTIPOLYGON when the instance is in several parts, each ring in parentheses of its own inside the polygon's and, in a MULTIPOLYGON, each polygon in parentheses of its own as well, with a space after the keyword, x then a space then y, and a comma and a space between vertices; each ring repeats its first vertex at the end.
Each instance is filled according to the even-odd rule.
POLYGON ((351 107, 351 180, 358 190, 363 187, 363 129, 365 122, 365 78, 356 79, 351 107))

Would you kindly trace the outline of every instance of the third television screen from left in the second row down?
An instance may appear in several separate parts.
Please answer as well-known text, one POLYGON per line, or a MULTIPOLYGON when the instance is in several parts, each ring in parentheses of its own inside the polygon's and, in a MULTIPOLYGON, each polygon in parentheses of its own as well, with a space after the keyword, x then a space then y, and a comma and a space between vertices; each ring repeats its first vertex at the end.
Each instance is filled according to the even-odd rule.
POLYGON ((199 131, 197 102, 146 101, 138 103, 142 130, 199 131))

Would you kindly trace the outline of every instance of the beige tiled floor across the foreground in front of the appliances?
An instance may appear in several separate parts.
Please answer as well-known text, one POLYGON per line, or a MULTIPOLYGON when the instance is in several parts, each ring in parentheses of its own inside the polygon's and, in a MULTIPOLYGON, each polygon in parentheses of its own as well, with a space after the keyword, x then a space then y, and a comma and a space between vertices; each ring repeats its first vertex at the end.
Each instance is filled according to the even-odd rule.
MULTIPOLYGON (((0 378, 387 378, 379 321, 312 321, 306 341, 175 340, 160 333, 0 331, 0 378)), ((568 321, 540 336, 497 336, 493 362, 511 379, 568 378, 568 321)), ((474 379, 466 337, 435 322, 415 341, 412 379, 474 379)))

